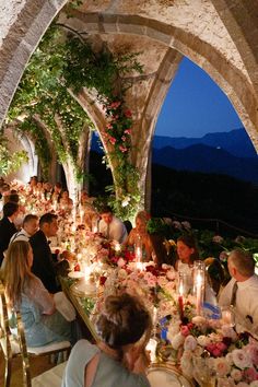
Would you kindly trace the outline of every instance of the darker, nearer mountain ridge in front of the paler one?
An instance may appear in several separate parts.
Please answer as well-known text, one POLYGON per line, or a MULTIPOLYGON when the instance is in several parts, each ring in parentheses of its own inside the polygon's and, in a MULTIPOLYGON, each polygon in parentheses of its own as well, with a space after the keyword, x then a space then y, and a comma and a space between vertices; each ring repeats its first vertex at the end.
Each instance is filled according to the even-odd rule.
POLYGON ((223 149, 196 144, 186 149, 154 149, 152 162, 177 171, 230 175, 258 185, 258 157, 236 157, 223 149))

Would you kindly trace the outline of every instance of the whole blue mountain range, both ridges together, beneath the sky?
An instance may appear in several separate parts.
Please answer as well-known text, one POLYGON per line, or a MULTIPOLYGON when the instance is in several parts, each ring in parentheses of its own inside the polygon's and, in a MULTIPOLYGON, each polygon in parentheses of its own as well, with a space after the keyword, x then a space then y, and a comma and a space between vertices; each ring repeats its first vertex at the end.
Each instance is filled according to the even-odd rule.
MULTIPOLYGON (((99 152, 96 136, 92 150, 99 152)), ((228 175, 258 185, 258 156, 244 128, 202 138, 155 136, 152 163, 176 171, 228 175)))

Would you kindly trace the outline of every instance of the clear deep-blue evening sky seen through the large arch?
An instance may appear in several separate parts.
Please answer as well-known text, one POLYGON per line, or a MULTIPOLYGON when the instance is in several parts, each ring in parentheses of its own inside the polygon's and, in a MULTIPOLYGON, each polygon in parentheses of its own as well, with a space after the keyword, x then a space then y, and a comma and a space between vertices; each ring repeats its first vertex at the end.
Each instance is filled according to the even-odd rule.
POLYGON ((196 138, 241 127, 227 96, 202 69, 184 58, 166 95, 155 134, 196 138))

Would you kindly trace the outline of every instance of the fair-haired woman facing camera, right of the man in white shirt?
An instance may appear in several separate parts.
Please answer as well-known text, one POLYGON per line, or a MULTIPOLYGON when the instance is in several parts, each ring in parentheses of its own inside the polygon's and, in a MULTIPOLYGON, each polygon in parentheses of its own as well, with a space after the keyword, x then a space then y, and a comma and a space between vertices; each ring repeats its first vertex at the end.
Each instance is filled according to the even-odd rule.
POLYGON ((145 211, 138 212, 136 216, 136 227, 130 231, 125 243, 125 246, 131 246, 132 248, 136 248, 140 241, 143 261, 149 261, 152 258, 155 258, 152 239, 146 231, 146 223, 149 219, 150 215, 145 211))

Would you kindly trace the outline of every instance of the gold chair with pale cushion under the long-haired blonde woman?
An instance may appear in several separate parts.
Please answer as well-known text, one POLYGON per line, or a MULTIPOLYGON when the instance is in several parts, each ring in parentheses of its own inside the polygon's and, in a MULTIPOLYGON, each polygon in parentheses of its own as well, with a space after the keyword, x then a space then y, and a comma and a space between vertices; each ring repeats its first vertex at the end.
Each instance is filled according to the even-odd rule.
POLYGON ((30 348, 26 345, 24 327, 20 312, 14 312, 14 320, 16 321, 16 327, 13 333, 9 324, 4 286, 0 282, 0 343, 5 360, 3 387, 10 387, 12 360, 16 356, 21 356, 22 359, 23 386, 31 387, 32 382, 28 357, 64 353, 67 359, 71 350, 71 344, 69 341, 61 341, 54 342, 44 347, 30 348))

